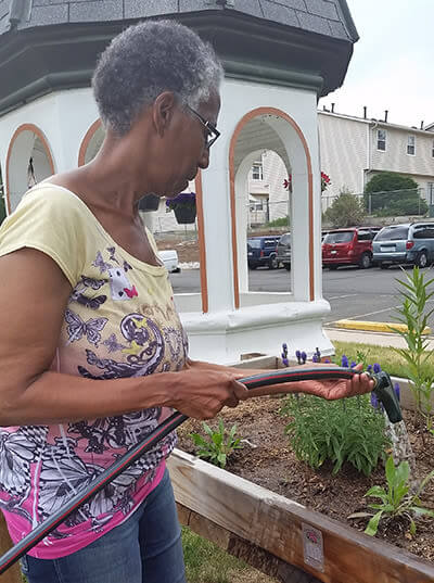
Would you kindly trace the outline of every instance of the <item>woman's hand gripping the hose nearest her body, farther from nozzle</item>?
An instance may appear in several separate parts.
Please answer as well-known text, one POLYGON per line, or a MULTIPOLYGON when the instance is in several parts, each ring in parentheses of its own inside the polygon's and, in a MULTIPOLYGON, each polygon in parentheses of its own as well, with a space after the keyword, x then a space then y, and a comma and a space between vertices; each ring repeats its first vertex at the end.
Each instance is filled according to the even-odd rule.
POLYGON ((194 419, 212 419, 222 407, 237 407, 248 395, 238 381, 245 377, 242 371, 188 368, 167 378, 171 376, 175 382, 168 388, 169 406, 194 419))

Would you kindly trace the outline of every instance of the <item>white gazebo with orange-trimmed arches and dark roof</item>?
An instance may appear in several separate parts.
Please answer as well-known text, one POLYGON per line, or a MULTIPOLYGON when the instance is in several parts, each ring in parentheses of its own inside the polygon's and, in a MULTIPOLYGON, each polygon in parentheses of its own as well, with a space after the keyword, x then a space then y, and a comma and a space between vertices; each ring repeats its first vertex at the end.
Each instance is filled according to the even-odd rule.
MULTIPOLYGON (((0 166, 8 211, 28 186, 89 162, 103 128, 90 90, 97 55, 126 24, 176 17, 224 61, 221 138, 196 177, 201 293, 176 302, 193 358, 332 346, 322 331, 317 102, 342 85, 357 40, 345 0, 0 0, 0 166), (4 5, 3 5, 4 4, 4 5), (98 4, 98 7, 95 7, 98 4), (3 8, 3 11, 1 9, 3 8), (288 292, 251 292, 247 175, 264 150, 292 175, 288 292)), ((150 220, 150 224, 152 221, 150 220)))

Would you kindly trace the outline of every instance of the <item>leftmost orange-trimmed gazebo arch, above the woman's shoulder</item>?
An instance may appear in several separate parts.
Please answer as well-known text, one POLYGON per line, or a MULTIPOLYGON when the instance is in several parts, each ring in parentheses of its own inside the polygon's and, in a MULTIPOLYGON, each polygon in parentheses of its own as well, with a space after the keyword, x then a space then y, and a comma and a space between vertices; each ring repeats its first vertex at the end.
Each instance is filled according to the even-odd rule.
POLYGON ((12 136, 7 155, 8 213, 18 204, 26 190, 55 173, 50 144, 34 124, 21 125, 12 136))

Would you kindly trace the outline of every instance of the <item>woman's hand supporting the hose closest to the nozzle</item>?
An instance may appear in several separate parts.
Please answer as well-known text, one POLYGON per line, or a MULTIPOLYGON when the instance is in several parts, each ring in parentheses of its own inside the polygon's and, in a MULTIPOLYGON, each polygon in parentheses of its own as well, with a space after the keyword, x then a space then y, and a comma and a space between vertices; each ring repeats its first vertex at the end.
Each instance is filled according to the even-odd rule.
MULTIPOLYGON (((362 365, 357 365, 353 370, 361 371, 362 365)), ((335 401, 370 393, 373 388, 374 382, 371 377, 362 372, 361 375, 355 375, 352 379, 305 381, 301 392, 321 396, 328 401, 335 401)))

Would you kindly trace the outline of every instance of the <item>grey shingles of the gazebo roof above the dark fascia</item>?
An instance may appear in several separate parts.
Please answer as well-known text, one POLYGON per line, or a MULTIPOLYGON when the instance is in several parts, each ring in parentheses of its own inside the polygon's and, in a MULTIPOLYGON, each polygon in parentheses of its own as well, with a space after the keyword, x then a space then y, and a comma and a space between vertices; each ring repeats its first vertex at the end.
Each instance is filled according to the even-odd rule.
POLYGON ((225 10, 335 39, 358 39, 346 0, 0 0, 0 34, 15 27, 225 10))

